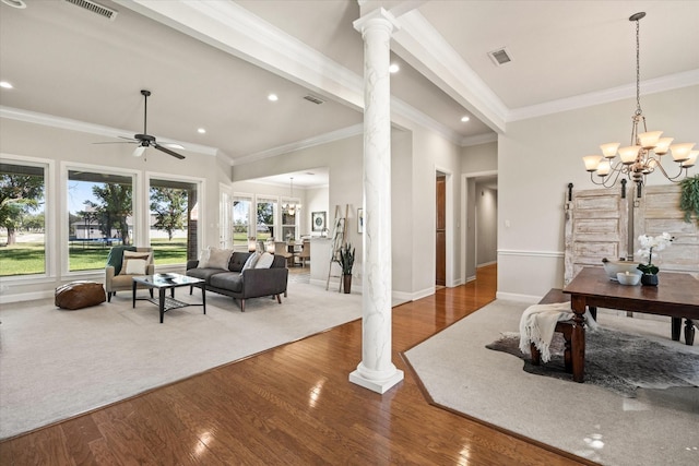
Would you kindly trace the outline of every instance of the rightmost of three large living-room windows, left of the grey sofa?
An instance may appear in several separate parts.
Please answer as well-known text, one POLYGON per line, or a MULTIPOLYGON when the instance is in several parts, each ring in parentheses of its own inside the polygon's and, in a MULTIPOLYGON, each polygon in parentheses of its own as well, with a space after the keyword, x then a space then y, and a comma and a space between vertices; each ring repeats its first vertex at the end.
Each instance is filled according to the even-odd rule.
POLYGON ((149 237, 157 264, 183 264, 196 259, 197 183, 152 178, 150 184, 149 237))

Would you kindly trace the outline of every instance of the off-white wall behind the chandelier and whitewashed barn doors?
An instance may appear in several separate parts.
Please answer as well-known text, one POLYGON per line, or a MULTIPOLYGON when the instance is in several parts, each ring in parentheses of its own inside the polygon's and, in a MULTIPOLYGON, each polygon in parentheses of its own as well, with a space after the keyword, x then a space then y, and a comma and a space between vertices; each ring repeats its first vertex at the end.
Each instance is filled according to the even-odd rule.
MULTIPOLYGON (((649 130, 699 142, 699 86, 641 100, 649 130)), ((594 188, 581 157, 605 142, 630 143, 635 109, 636 99, 625 99, 508 123, 498 141, 498 297, 532 300, 562 286, 566 187, 594 188)), ((660 174, 648 182, 668 183, 660 174)))

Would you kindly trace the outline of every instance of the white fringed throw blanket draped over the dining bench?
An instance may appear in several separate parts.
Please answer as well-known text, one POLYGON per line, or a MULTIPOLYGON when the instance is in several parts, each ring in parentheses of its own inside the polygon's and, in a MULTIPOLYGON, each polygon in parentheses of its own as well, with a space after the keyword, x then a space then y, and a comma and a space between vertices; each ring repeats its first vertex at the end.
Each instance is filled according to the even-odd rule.
MULTIPOLYGON (((597 323, 587 309, 584 316, 587 327, 595 331, 597 323)), ((524 310, 520 319, 520 350, 529 354, 530 343, 533 343, 542 355, 542 361, 548 362, 550 360, 549 346, 554 338, 556 323, 568 321, 572 318, 573 312, 570 310, 570 302, 530 306, 524 310)))

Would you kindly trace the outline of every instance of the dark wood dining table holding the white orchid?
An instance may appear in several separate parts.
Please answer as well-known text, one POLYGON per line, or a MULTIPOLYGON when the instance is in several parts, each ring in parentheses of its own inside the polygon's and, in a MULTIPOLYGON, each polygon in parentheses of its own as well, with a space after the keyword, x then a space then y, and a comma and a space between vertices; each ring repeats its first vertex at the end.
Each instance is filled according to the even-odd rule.
MULTIPOLYGON (((680 319, 699 320, 699 280, 685 273, 660 273, 660 285, 625 286, 609 279, 602 267, 585 267, 564 288, 570 295, 572 379, 582 382, 585 363, 585 307, 621 309, 673 318, 673 338, 680 319)), ((688 325, 691 325, 689 322, 688 325)))

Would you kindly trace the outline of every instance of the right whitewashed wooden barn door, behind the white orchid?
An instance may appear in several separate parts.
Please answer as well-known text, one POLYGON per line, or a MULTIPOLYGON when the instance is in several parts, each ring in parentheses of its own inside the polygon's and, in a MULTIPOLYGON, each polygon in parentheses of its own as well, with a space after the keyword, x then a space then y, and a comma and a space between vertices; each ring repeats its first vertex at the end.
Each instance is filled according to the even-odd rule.
POLYGON ((684 220, 679 210, 680 188, 677 184, 644 187, 643 196, 635 198, 633 250, 640 248, 640 235, 657 236, 667 231, 675 237, 670 248, 660 253, 653 263, 661 271, 689 272, 699 275, 699 227, 697 222, 684 220))

